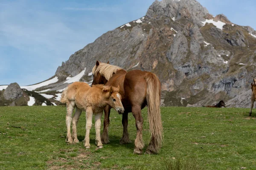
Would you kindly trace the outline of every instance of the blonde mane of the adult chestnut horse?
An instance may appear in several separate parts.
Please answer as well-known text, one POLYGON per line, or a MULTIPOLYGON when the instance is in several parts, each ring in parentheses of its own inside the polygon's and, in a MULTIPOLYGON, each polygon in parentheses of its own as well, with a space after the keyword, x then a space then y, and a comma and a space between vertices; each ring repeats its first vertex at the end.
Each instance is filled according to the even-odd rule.
POLYGON ((105 77, 105 79, 109 80, 114 73, 118 70, 123 70, 122 68, 116 66, 116 65, 110 65, 107 63, 100 62, 99 65, 96 67, 96 65, 93 67, 93 75, 97 76, 97 74, 101 74, 105 77))

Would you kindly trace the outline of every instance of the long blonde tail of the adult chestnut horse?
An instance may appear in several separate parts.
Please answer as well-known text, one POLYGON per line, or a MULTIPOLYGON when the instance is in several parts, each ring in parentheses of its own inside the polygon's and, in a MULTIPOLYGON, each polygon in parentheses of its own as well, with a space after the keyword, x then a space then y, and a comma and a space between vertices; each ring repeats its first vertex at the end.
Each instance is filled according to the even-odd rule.
POLYGON ((147 83, 147 105, 148 122, 151 131, 151 150, 157 153, 162 144, 163 125, 160 114, 161 84, 157 75, 147 73, 145 75, 147 83))

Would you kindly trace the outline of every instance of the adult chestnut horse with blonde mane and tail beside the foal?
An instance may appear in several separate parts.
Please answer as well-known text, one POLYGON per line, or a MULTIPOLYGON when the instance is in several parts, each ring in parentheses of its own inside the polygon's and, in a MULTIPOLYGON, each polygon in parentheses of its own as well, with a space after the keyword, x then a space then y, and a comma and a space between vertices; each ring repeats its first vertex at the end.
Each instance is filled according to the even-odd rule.
MULTIPOLYGON (((137 136, 134 141, 134 153, 141 154, 144 147, 143 142, 143 117, 141 109, 148 106, 148 122, 151 131, 151 141, 145 153, 158 153, 162 141, 163 126, 160 115, 160 92, 161 84, 157 76, 148 71, 124 69, 108 63, 96 62, 93 67, 93 82, 95 84, 105 84, 108 86, 120 87, 119 93, 122 96, 122 104, 125 112, 122 114, 123 135, 120 144, 130 143, 128 126, 128 113, 132 112, 137 128, 137 136)), ((111 106, 104 109, 104 128, 102 142, 108 143, 108 125, 111 106)))

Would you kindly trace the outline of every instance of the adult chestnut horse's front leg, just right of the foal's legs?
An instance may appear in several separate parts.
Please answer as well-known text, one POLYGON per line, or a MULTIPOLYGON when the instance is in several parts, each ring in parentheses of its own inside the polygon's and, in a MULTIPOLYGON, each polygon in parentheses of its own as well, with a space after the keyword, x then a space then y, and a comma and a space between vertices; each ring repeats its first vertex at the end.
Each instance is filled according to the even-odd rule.
POLYGON ((103 132, 102 132, 102 137, 101 137, 101 141, 104 144, 109 143, 109 138, 108 138, 108 125, 109 125, 109 116, 110 116, 110 109, 111 106, 107 105, 104 108, 104 124, 103 124, 103 132))

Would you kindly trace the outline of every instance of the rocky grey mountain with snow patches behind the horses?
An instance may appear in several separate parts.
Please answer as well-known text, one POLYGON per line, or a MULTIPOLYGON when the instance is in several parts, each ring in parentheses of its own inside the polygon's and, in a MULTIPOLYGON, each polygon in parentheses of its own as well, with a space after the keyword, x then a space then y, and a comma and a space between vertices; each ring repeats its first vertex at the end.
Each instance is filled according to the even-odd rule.
POLYGON ((223 99, 232 107, 248 107, 250 99, 241 105, 236 98, 248 96, 256 75, 256 31, 223 14, 213 17, 196 0, 156 0, 144 17, 71 55, 55 73, 59 81, 41 90, 63 89, 66 79, 81 71, 80 81, 90 83, 96 60, 157 74, 162 105, 201 106, 223 99))

